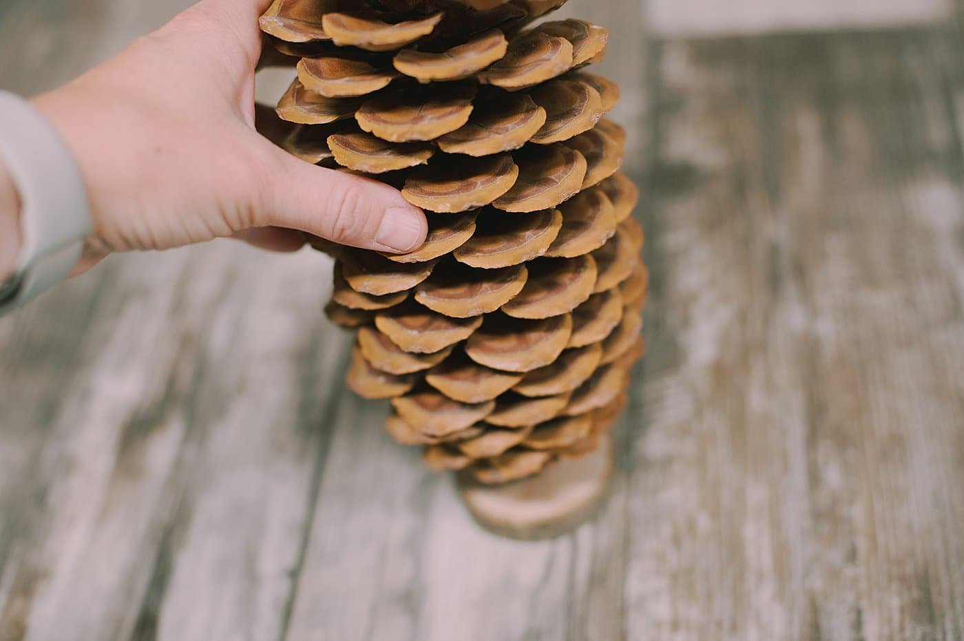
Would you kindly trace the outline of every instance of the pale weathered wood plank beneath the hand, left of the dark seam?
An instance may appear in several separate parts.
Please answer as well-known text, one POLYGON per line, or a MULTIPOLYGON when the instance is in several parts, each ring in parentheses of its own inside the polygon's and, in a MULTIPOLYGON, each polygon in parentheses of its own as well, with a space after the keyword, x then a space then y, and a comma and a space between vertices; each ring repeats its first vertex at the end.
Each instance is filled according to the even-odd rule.
MULTIPOLYGON (((5 86, 47 88, 188 3, 100 2, 89 24, 54 4, 11 8, 8 59, 35 23, 56 46, 5 86)), ((224 241, 112 257, 0 320, 0 638, 279 638, 341 389, 330 281, 318 254, 224 241)))

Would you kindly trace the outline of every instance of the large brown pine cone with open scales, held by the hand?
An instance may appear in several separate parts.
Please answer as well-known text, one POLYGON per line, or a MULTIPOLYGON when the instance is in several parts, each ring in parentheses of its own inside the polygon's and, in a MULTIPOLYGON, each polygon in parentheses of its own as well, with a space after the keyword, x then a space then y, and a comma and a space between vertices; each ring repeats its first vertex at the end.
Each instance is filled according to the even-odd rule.
POLYGON ((606 31, 531 26, 565 0, 275 0, 261 28, 297 56, 278 114, 308 162, 392 184, 425 210, 411 254, 334 247, 350 386, 388 432, 482 483, 592 451, 642 356, 638 192, 582 67, 606 31))

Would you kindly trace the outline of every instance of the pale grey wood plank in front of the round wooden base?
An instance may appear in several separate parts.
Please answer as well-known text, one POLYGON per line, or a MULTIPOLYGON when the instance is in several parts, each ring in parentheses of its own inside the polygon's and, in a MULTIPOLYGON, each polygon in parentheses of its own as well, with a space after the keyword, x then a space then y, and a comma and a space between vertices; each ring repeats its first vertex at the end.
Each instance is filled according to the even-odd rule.
POLYGON ((491 535, 448 478, 390 441, 384 416, 353 399, 335 419, 286 639, 613 638, 595 630, 619 620, 584 609, 604 525, 544 542, 491 535))

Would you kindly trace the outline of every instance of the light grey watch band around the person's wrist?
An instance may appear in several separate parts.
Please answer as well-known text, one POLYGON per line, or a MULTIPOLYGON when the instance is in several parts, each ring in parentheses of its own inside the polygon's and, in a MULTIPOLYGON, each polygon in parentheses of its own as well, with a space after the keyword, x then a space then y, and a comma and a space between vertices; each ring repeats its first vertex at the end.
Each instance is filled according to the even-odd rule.
POLYGON ((20 196, 17 272, 0 283, 0 312, 65 280, 91 233, 80 169, 60 134, 30 102, 0 92, 0 161, 20 196))

